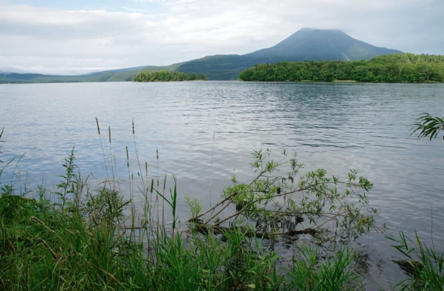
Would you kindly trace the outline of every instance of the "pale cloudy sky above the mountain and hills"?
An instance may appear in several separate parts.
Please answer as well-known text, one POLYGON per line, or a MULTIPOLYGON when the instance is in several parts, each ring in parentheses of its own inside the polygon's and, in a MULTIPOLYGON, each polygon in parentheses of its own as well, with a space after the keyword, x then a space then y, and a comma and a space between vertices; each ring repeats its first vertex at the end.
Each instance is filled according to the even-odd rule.
POLYGON ((0 0, 0 71, 74 75, 273 46, 300 28, 444 54, 444 0, 0 0))

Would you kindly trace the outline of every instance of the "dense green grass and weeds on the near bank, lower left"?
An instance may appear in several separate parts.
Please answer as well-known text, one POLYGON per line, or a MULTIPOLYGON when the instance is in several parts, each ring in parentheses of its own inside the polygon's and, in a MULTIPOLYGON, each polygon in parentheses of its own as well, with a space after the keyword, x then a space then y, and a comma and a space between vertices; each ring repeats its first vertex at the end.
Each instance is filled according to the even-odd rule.
MULTIPOLYGON (((330 290, 333 282, 349 286, 356 280, 348 249, 319 267, 289 267, 286 276, 262 238, 241 227, 225 231, 225 240, 193 229, 169 236, 165 226, 131 227, 128 233, 120 218, 130 203, 129 220, 136 220, 134 205, 110 188, 94 194, 86 186, 67 186, 84 183, 74 175, 74 161, 71 152, 60 176, 60 194, 71 194, 65 210, 42 187, 39 200, 0 190, 1 290, 310 290, 314 280, 323 282, 317 290, 330 290), (310 280, 300 279, 300 270, 310 280)), ((176 197, 175 188, 167 200, 173 209, 176 197)), ((313 247, 310 254, 316 252, 313 247)))

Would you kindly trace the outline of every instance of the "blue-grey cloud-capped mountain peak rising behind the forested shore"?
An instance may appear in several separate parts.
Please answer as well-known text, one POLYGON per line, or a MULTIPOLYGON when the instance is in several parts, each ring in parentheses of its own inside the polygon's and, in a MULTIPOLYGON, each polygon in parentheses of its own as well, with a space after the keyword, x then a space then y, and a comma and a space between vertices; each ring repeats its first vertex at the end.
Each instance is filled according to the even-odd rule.
POLYGON ((366 44, 341 30, 302 28, 271 48, 246 55, 213 55, 178 67, 184 73, 204 73, 210 80, 237 80, 244 69, 271 62, 305 60, 370 60, 378 55, 402 53, 366 44))

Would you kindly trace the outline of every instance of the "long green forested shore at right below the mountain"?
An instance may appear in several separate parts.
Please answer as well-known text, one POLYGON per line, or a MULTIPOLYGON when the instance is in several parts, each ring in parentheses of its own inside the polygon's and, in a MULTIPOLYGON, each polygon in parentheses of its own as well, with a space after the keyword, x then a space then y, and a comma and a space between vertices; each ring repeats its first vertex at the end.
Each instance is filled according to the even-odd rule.
POLYGON ((244 81, 443 82, 443 55, 399 53, 371 60, 277 62, 242 71, 244 81))

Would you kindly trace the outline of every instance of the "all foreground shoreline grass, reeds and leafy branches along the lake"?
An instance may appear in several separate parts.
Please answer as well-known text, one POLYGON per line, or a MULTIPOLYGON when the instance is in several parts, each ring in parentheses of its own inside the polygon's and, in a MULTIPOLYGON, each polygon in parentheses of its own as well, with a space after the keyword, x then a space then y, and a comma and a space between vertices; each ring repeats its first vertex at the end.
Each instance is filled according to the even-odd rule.
MULTIPOLYGON (((127 147, 126 199, 111 129, 101 133, 96 123, 108 173, 102 183, 89 184, 80 173, 74 148, 56 191, 1 184, 14 159, 0 161, 1 290, 365 290, 348 243, 385 227, 376 227, 377 211, 369 205, 373 184, 357 171, 344 179, 322 168, 304 173, 296 154, 284 150, 273 160, 268 150, 255 150, 253 178, 240 182, 233 175, 219 202, 204 211, 197 200, 180 197, 176 177, 168 176, 174 185, 168 193, 167 175, 163 181, 148 176, 133 122, 137 164, 130 165, 127 147), (142 205, 134 195, 144 197, 142 205), (186 230, 176 227, 184 198, 186 230), (297 249, 287 265, 271 247, 280 238, 297 249)), ((441 118, 418 118, 420 137, 443 129, 441 118)), ((393 290, 442 290, 442 252, 418 236, 387 238, 406 258, 398 264, 409 274, 393 290)))

